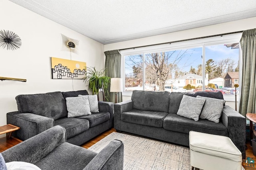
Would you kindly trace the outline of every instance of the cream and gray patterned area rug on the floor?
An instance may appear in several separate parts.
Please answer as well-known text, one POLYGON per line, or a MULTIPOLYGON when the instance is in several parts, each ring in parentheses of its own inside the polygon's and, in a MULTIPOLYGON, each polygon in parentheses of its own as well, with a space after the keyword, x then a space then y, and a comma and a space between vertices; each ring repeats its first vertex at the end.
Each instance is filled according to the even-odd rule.
POLYGON ((124 170, 191 170, 189 148, 123 133, 113 132, 89 150, 98 153, 114 139, 124 143, 124 170))

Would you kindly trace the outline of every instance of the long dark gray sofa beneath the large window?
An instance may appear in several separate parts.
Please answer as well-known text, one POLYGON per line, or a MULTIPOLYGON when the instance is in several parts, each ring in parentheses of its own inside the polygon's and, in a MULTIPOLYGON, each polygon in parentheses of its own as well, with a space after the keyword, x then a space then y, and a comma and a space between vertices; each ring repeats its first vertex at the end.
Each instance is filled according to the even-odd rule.
POLYGON ((177 115, 183 95, 223 99, 221 92, 149 92, 134 90, 131 100, 114 104, 114 128, 162 141, 189 146, 189 131, 229 137, 245 158, 246 119, 224 106, 220 123, 194 121, 177 115))

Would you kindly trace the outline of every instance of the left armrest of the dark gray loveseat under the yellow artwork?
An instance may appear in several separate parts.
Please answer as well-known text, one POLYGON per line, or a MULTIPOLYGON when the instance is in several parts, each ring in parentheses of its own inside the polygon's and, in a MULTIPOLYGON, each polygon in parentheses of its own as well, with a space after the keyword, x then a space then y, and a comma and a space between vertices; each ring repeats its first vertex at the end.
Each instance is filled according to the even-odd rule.
POLYGON ((18 111, 7 113, 7 124, 20 127, 12 133, 14 137, 25 141, 54 125, 54 119, 32 113, 20 113, 18 111))

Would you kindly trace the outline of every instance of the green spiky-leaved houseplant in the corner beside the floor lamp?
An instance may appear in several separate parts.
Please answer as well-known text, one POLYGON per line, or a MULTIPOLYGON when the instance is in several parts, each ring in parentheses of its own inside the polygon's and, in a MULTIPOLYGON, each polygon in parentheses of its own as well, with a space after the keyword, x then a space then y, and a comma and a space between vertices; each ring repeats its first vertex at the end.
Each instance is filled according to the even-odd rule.
POLYGON ((110 77, 104 76, 105 69, 97 71, 95 67, 85 67, 85 77, 83 78, 85 82, 89 82, 89 90, 92 91, 92 95, 99 93, 99 89, 108 88, 110 84, 110 77))

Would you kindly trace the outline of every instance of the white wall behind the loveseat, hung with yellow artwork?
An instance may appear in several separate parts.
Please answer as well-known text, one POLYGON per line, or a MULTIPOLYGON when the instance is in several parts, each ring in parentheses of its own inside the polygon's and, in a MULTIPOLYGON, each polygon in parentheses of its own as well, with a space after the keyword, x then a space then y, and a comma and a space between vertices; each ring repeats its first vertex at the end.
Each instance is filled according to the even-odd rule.
POLYGON ((0 76, 27 79, 0 81, 0 126, 6 124, 6 113, 18 110, 18 94, 87 89, 83 80, 51 79, 50 57, 70 59, 70 52, 61 51, 61 33, 79 40, 79 54, 72 53, 72 60, 86 62, 97 70, 104 68, 103 44, 8 0, 0 1, 0 16, 0 29, 13 31, 22 39, 18 50, 0 47, 0 76))

